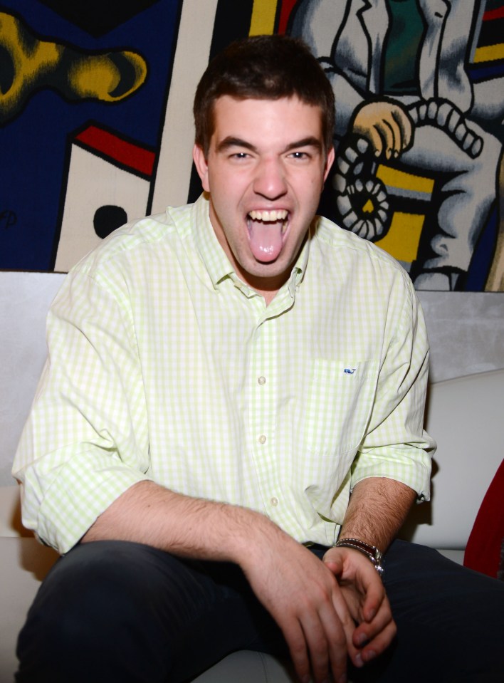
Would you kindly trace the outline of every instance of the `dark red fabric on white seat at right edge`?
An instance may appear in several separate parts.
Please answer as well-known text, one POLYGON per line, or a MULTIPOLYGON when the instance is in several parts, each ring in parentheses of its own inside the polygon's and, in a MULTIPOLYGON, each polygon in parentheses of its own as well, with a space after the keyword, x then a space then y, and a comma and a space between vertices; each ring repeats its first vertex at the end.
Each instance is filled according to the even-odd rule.
POLYGON ((488 487, 464 553, 464 566, 497 578, 504 541, 504 460, 488 487))

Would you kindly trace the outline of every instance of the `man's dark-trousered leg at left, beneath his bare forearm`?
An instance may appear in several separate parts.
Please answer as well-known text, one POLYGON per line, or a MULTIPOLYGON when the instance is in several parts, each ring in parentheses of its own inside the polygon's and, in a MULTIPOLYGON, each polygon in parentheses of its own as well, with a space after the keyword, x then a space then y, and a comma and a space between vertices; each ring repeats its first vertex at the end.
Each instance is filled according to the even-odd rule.
POLYGON ((176 683, 233 650, 268 648, 270 635, 274 642, 275 625, 234 565, 85 543, 41 585, 19 637, 16 680, 176 683))

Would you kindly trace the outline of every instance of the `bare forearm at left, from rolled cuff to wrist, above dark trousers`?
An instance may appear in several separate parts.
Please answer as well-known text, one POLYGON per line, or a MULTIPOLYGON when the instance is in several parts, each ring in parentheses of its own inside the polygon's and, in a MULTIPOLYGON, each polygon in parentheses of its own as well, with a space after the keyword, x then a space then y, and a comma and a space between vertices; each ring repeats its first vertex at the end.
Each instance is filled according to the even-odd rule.
POLYGON ((278 536, 287 537, 260 513, 141 481, 97 518, 82 542, 133 541, 179 556, 241 564, 246 548, 252 552, 262 540, 275 543, 278 536))

